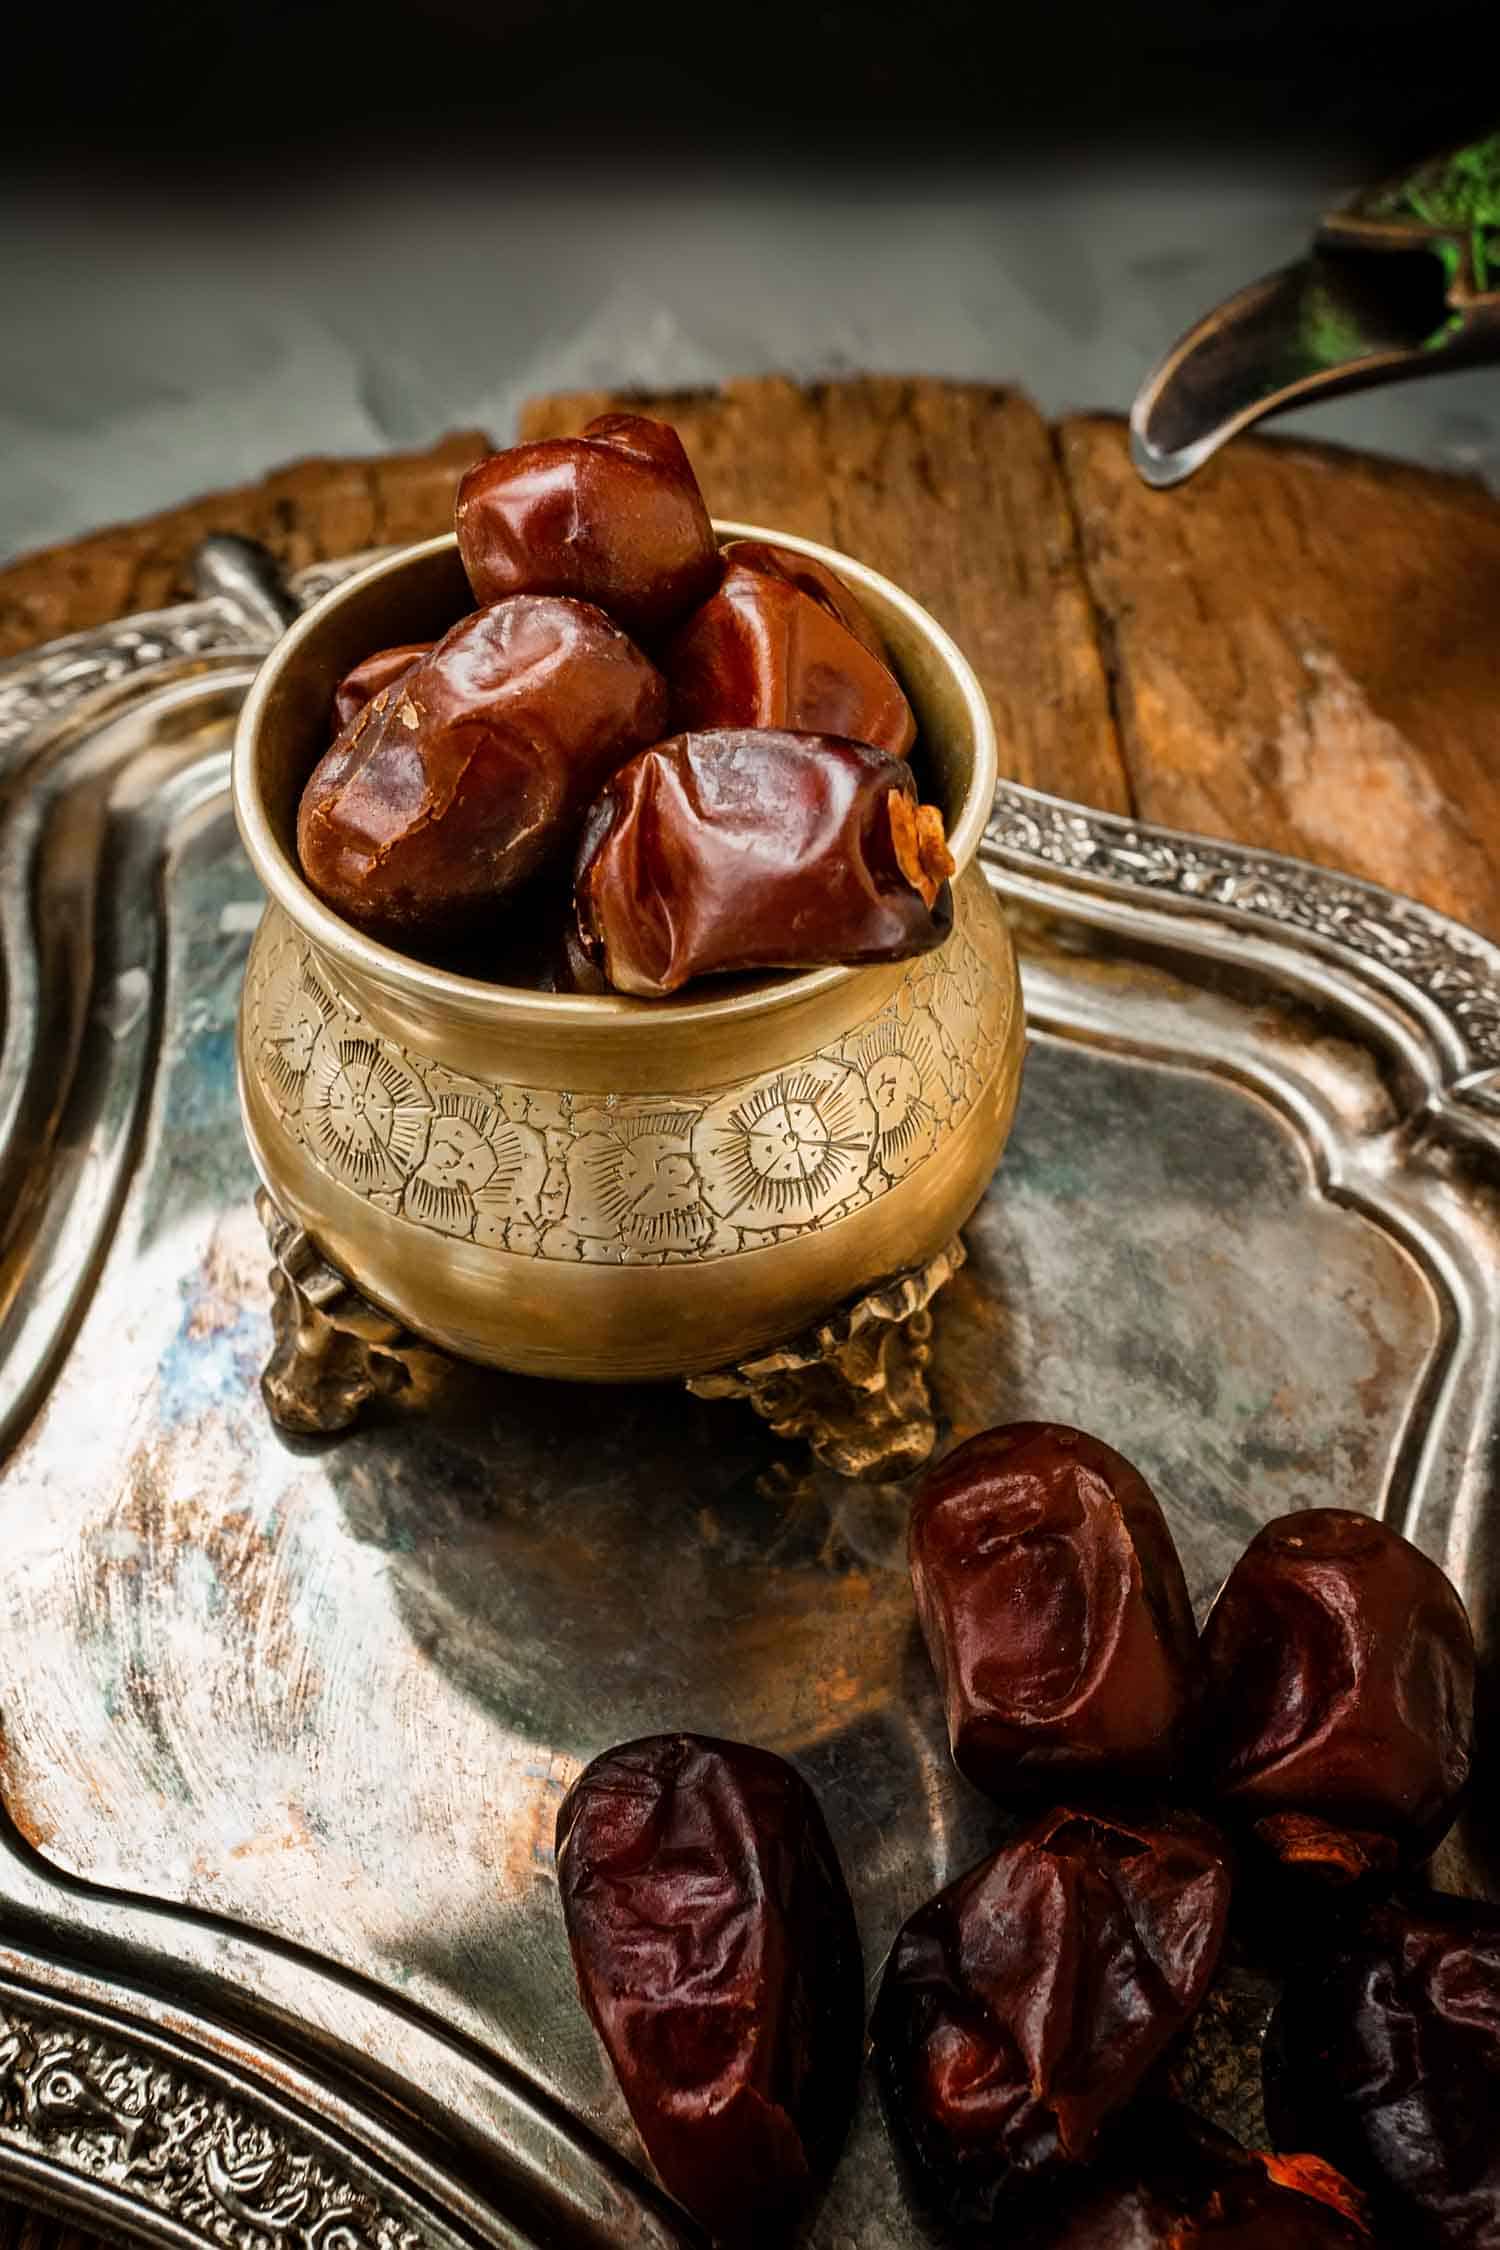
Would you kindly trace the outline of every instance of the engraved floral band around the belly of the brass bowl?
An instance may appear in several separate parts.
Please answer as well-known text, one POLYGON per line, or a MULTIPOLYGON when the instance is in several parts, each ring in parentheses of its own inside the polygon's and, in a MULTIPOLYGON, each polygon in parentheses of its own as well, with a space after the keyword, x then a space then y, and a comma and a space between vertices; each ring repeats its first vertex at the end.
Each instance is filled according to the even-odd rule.
POLYGON ((1012 992, 960 927, 839 1048, 704 1100, 576 1100, 430 1064, 358 1022, 274 911, 245 1010, 261 1091, 355 1195, 510 1253, 670 1264, 758 1249, 888 1192, 983 1091, 1012 992))

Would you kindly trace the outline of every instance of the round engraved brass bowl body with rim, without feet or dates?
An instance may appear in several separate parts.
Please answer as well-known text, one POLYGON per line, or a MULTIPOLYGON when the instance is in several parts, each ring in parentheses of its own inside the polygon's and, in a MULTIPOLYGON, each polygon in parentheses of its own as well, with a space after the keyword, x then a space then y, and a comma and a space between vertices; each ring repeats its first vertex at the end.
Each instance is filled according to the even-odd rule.
POLYGON ((448 974, 331 914, 297 868, 297 796, 342 673, 472 610, 452 538, 326 594, 238 722, 234 810, 270 893, 238 1022, 252 1156, 328 1264, 463 1359, 591 1382, 729 1366, 933 1258, 1010 1127, 1023 1022, 974 866, 996 774, 981 686, 861 562, 717 533, 816 556, 879 623, 958 862, 936 954, 585 999, 448 974))

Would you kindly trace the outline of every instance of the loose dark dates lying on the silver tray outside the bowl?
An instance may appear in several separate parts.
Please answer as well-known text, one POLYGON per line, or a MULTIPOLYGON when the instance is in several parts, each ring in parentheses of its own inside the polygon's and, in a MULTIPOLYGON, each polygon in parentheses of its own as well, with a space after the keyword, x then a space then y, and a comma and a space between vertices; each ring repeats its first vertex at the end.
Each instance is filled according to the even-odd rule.
POLYGON ((1444 1573, 1311 1508, 1250 1541, 1199 1634, 1140 1472, 1016 1422, 927 1474, 911 1577, 954 1760, 1012 1825, 895 1933, 868 2034, 789 1764, 657 1735, 562 1804, 580 1994, 663 2185, 715 2241, 792 2241, 870 2052, 960 2243, 1500 2250, 1500 1908, 1419 1874, 1473 1757, 1444 1573), (1275 2151, 1174 2072, 1230 1935, 1280 1946, 1275 2151))

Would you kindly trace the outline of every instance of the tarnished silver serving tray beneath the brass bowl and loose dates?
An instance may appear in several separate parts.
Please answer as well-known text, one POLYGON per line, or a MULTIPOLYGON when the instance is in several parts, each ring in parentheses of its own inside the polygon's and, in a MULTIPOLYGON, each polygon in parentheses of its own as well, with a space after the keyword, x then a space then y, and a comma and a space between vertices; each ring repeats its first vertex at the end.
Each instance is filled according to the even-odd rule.
MULTIPOLYGON (((794 1755, 870 1984, 1003 1820, 945 1753, 900 1487, 477 1372, 270 1429, 227 747, 335 574, 211 542, 198 601, 0 666, 0 2185, 164 2246, 666 2250, 555 1906, 580 1762, 794 1755)), ((947 1426, 1109 1436, 1199 1602, 1266 1516, 1381 1510, 1493 1640, 1500 950, 1012 785, 987 866, 1032 1053, 938 1305, 947 1426)), ((1473 1836, 1442 1872, 1496 1876, 1473 1836)), ((1262 2002, 1201 2072, 1241 2117, 1262 2002)), ((807 2239, 927 2241, 868 2090, 807 2239)))

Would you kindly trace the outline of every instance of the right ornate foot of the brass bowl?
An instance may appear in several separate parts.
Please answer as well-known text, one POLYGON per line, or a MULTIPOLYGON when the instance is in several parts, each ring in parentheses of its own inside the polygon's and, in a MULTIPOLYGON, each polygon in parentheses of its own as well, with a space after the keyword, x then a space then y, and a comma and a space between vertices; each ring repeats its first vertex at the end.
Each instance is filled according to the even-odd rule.
POLYGON ((744 1400, 778 1438, 805 1438, 839 1476, 911 1476, 938 1438, 927 1388, 931 1300, 963 1262, 954 1235, 924 1267, 850 1298, 792 1343, 688 1377, 688 1390, 744 1400))

